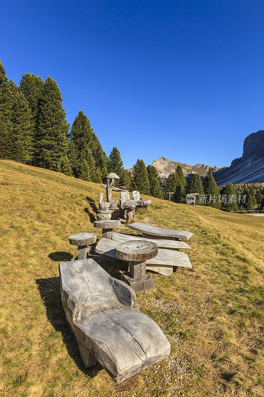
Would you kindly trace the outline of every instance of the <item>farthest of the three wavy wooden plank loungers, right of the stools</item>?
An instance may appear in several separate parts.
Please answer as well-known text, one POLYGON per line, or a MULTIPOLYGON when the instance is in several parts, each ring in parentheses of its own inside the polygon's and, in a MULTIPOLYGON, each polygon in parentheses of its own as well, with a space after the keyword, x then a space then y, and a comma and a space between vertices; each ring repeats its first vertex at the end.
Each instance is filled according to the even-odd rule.
POLYGON ((182 239, 182 240, 189 240, 192 237, 193 233, 187 232, 186 230, 169 230, 169 229, 162 229, 161 227, 150 226, 146 225, 145 223, 134 222, 128 225, 130 229, 137 230, 138 232, 142 233, 142 237, 145 238, 156 238, 156 239, 182 239))

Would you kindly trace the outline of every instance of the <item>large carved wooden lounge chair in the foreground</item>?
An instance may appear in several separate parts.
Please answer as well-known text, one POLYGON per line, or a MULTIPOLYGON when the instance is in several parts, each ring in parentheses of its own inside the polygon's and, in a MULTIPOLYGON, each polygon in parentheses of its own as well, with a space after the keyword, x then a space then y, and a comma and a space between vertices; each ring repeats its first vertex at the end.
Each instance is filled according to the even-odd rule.
POLYGON ((120 383, 169 356, 169 341, 126 283, 93 259, 60 263, 59 275, 65 320, 86 367, 98 361, 120 383))

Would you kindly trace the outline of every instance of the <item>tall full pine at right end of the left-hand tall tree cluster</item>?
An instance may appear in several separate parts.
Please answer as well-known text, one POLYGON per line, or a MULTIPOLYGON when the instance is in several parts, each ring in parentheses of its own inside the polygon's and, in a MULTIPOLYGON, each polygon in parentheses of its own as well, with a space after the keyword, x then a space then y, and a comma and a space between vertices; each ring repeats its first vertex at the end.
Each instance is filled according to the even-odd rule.
POLYGON ((38 166, 56 170, 60 158, 67 154, 69 126, 65 116, 59 87, 53 78, 48 77, 39 101, 36 136, 38 166))

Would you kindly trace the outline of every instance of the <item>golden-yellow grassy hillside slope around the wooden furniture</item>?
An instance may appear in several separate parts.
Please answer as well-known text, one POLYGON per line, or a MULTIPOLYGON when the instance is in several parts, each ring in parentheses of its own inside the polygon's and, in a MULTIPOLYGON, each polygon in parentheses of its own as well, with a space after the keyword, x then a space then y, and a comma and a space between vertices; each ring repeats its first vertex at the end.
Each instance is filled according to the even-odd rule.
MULTIPOLYGON (((84 368, 64 322, 58 262, 76 257, 69 235, 100 233, 92 222, 102 191, 0 161, 0 396, 264 396, 264 218, 153 198, 137 220, 194 233, 193 269, 153 273, 155 289, 138 295, 171 356, 120 385, 100 365, 84 368)), ((126 270, 94 258, 117 278, 126 270)))

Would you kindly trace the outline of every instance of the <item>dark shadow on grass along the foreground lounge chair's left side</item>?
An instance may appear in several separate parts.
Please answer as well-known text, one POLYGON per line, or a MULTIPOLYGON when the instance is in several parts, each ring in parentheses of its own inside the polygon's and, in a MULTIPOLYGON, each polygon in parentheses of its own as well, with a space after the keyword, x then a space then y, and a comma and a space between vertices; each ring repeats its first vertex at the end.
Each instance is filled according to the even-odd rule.
POLYGON ((67 352, 77 367, 88 377, 95 377, 102 370, 100 364, 86 368, 81 360, 79 349, 72 332, 65 323, 65 313, 61 303, 59 277, 40 278, 36 280, 40 296, 46 307, 47 317, 56 331, 62 335, 67 352))

